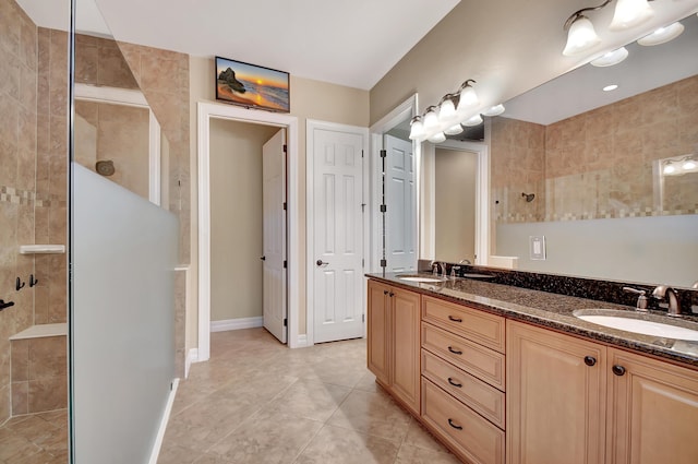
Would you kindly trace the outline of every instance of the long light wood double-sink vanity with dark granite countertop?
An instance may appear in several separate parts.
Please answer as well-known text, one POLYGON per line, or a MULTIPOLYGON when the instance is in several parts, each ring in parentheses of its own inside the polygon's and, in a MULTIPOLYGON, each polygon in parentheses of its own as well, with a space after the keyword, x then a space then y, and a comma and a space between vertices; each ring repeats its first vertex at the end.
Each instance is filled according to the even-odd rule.
POLYGON ((698 292, 670 318, 622 284, 446 274, 368 275, 368 365, 460 460, 698 462, 698 292))

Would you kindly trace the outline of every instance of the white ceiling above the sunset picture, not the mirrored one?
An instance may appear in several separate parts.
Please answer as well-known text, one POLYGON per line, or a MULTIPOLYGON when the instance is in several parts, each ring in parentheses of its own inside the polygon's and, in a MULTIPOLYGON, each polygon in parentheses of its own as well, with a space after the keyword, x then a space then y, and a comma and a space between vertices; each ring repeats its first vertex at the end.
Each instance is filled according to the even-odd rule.
MULTIPOLYGON (((76 0, 76 29, 370 90, 460 0, 76 0), (87 12, 87 14, 83 14, 87 12)), ((17 0, 65 29, 63 1, 17 0)))

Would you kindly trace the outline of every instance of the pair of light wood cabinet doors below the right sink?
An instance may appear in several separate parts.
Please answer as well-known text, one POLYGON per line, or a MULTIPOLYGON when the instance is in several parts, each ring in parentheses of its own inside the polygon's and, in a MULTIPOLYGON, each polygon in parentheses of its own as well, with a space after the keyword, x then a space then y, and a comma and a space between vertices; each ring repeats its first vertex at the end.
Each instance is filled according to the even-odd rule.
POLYGON ((698 371, 507 321, 507 462, 698 462, 698 371))

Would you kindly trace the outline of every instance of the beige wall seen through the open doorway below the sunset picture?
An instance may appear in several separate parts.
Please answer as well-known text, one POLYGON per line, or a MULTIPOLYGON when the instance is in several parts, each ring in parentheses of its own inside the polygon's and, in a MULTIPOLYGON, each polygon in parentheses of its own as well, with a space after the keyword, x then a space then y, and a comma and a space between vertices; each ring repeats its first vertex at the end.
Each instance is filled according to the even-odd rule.
POLYGON ((210 121, 210 320, 262 316, 262 145, 279 129, 210 121))

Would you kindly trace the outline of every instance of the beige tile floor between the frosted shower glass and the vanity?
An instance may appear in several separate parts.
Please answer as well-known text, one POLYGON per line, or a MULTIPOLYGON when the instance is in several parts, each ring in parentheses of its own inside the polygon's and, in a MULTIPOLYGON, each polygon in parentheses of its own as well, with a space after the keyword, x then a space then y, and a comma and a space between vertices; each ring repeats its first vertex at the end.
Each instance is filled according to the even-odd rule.
POLYGON ((456 464, 366 370, 364 340, 289 349, 212 334, 179 385, 158 464, 456 464))

